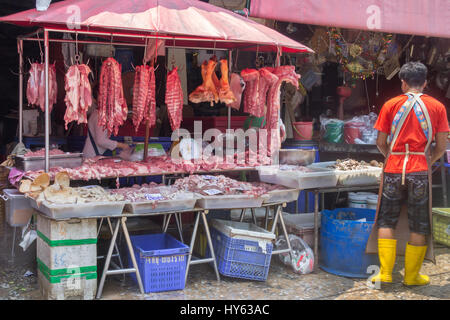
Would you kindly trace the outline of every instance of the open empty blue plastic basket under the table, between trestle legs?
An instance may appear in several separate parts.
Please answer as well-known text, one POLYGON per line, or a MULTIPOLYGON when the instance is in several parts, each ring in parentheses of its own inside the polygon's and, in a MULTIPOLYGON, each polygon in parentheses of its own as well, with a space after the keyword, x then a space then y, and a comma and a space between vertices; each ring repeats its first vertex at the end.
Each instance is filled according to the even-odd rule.
MULTIPOLYGON (((145 293, 184 289, 187 245, 166 233, 130 238, 145 293)), ((131 276, 137 283, 136 275, 131 276)))

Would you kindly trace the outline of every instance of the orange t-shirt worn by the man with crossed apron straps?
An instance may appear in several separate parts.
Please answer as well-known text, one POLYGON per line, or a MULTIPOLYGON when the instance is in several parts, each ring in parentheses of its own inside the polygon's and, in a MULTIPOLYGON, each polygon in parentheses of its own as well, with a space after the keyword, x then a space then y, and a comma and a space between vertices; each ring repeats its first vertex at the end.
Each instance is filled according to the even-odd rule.
MULTIPOLYGON (((434 140, 437 132, 449 131, 447 111, 445 110, 445 106, 433 97, 424 94, 421 96, 421 98, 430 115, 434 140)), ((402 105, 406 102, 406 100, 406 95, 400 95, 387 101, 381 108, 374 128, 378 131, 382 131, 390 135, 392 121, 394 120, 395 115, 402 107, 402 105)), ((392 151, 405 152, 405 144, 409 145, 410 152, 423 152, 427 144, 427 139, 420 127, 419 120, 417 120, 414 110, 411 110, 405 122, 403 123, 403 127, 400 129, 400 133, 397 138, 397 142, 395 143, 395 148, 392 151)), ((404 155, 390 155, 386 162, 384 172, 402 173, 404 158, 404 155)), ((428 167, 425 156, 414 154, 409 155, 409 159, 406 164, 407 173, 427 170, 428 167)))

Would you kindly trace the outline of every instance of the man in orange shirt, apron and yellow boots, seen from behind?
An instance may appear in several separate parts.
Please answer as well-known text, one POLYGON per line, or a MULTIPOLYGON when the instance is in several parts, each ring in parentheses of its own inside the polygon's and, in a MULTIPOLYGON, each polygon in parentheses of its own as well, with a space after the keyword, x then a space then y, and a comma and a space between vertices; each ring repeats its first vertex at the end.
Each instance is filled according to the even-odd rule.
POLYGON ((426 254, 434 261, 430 168, 446 150, 449 126, 445 106, 422 94, 427 84, 425 65, 420 62, 406 63, 399 77, 404 94, 384 104, 375 124, 378 130, 377 146, 386 161, 375 227, 367 251, 371 251, 370 242, 374 242, 377 233, 380 272, 371 279, 372 282, 392 282, 398 247, 405 248, 403 283, 426 285, 429 277, 420 275, 419 271, 426 254), (431 148, 432 140, 436 142, 434 148, 431 148), (406 215, 401 214, 403 204, 407 205, 408 212, 407 243, 404 240, 407 237, 403 237, 401 228, 397 228, 399 220, 402 217, 406 219, 406 215), (396 238, 403 243, 397 243, 396 238))

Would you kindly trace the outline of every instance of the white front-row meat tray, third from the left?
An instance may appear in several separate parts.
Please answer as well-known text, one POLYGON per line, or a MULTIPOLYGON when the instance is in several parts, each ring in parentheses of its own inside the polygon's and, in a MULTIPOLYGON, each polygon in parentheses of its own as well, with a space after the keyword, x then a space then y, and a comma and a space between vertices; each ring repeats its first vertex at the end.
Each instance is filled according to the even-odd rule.
POLYGON ((248 195, 201 196, 197 200, 197 207, 203 209, 259 208, 263 201, 263 197, 255 198, 248 195))

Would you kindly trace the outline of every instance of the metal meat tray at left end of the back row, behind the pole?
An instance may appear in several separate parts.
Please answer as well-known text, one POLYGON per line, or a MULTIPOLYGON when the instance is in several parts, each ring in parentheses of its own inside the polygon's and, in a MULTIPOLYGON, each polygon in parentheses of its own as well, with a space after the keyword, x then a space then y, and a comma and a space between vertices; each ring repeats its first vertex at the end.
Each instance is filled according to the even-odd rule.
MULTIPOLYGON (((65 153, 49 156, 49 166, 62 168, 76 168, 83 164, 83 153, 65 153)), ((15 167, 22 171, 36 171, 45 169, 45 157, 15 157, 15 167)))

